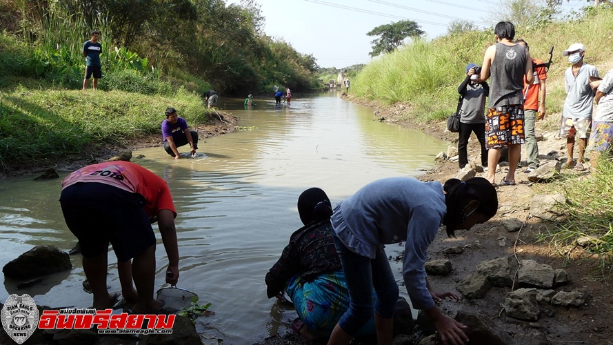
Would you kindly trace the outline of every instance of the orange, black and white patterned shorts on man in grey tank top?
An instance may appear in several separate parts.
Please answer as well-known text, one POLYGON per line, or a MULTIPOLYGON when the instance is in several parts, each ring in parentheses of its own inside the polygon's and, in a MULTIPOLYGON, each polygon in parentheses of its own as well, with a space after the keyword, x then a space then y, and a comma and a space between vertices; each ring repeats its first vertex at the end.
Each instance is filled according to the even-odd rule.
POLYGON ((509 104, 488 109, 485 123, 486 147, 503 148, 525 143, 523 105, 509 104))

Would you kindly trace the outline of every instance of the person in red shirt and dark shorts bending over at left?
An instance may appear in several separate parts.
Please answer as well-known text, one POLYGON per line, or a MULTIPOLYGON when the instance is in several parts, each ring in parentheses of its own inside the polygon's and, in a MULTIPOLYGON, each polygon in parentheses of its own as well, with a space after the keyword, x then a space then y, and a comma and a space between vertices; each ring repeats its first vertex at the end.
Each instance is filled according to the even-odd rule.
POLYGON ((107 161, 72 172, 62 181, 59 199, 66 225, 81 244, 83 270, 94 294, 93 307, 112 308, 118 295, 106 287, 108 244, 117 256, 125 302, 137 314, 155 313, 163 302, 153 298, 158 222, 168 256, 168 284, 179 279, 179 249, 172 196, 166 182, 129 161, 107 161), (132 286, 132 279, 136 290, 132 286))

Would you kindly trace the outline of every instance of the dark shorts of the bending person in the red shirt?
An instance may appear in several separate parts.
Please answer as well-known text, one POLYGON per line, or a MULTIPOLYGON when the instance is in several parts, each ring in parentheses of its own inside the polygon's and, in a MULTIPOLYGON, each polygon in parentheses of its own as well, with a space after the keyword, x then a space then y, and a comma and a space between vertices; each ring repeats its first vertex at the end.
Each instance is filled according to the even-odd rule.
POLYGON ((66 225, 79 239, 83 257, 106 253, 110 242, 117 260, 125 262, 155 245, 142 195, 88 182, 64 188, 59 201, 66 225))

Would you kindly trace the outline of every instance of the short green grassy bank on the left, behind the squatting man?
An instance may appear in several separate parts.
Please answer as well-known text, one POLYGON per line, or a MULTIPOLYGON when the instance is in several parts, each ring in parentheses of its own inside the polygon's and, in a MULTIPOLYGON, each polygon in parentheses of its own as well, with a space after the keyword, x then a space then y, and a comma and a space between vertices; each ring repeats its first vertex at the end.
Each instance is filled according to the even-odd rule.
POLYGON ((210 119, 201 98, 184 89, 156 97, 124 91, 5 90, 0 94, 0 170, 159 133, 170 106, 188 124, 210 119))

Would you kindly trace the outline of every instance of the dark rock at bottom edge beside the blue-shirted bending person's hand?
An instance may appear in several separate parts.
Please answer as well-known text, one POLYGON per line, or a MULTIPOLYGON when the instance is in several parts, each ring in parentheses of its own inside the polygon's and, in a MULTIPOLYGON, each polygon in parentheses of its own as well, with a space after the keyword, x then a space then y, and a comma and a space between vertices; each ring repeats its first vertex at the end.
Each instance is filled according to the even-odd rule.
POLYGON ((464 333, 468 335, 470 344, 512 345, 512 339, 488 317, 459 311, 454 319, 466 326, 464 333))

